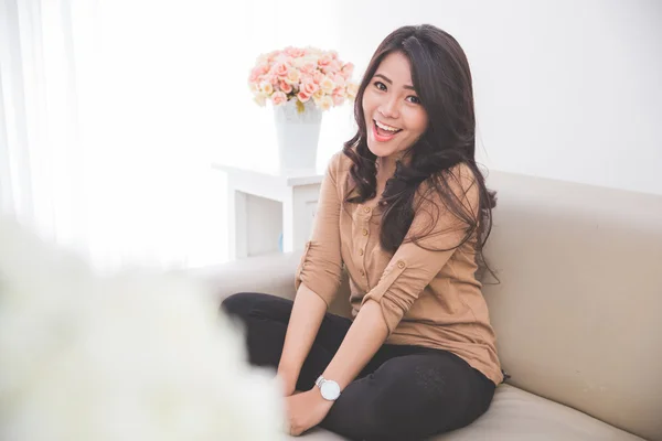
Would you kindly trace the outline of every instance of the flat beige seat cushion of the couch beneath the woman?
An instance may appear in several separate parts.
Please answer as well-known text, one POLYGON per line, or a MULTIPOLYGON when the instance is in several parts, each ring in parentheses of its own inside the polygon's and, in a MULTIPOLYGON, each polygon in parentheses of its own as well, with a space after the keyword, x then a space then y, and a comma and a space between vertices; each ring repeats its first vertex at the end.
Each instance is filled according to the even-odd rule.
MULTIPOLYGON (((314 429, 306 441, 340 441, 344 438, 314 429)), ((642 441, 569 407, 528 394, 513 386, 496 388, 490 409, 472 424, 430 441, 642 441)), ((407 440, 403 440, 407 441, 407 440)))

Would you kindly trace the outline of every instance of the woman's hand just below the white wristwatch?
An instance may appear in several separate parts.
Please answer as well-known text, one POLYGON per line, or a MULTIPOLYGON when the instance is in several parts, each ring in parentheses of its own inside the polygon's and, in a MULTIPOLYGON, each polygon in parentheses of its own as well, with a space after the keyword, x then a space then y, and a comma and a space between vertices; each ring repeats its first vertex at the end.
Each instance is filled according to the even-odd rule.
POLYGON ((322 398, 317 387, 307 392, 287 397, 285 400, 289 434, 293 437, 298 437, 322 422, 333 406, 333 401, 322 398))

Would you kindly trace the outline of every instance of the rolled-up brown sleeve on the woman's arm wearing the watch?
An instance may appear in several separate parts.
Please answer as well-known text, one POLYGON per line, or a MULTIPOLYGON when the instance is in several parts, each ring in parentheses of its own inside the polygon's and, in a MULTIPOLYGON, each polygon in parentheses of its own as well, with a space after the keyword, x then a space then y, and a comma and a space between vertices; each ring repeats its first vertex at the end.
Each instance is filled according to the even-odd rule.
MULTIPOLYGON (((449 186, 458 202, 473 216, 478 216, 479 191, 466 165, 455 168, 449 186)), ((377 284, 362 300, 362 304, 370 300, 380 303, 389 335, 420 292, 448 262, 467 236, 468 227, 466 222, 445 208, 439 194, 433 191, 426 193, 405 240, 395 251, 377 284), (418 240, 409 241, 413 236, 418 240)))

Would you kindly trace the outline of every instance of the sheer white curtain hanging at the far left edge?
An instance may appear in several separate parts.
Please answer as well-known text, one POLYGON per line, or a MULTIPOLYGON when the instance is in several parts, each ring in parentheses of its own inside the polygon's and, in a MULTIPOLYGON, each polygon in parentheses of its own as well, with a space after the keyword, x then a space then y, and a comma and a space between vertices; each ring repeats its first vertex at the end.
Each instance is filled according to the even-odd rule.
POLYGON ((81 243, 83 154, 76 135, 71 3, 0 3, 2 211, 81 243))

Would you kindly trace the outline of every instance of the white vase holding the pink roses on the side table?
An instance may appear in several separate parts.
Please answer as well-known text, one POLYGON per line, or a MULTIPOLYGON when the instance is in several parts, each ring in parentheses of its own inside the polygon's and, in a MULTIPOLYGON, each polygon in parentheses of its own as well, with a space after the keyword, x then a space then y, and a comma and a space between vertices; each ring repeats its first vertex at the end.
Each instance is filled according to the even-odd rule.
POLYGON ((322 110, 309 100, 290 99, 274 107, 280 170, 312 170, 317 163, 322 110), (300 111, 303 109, 303 111, 300 111))

